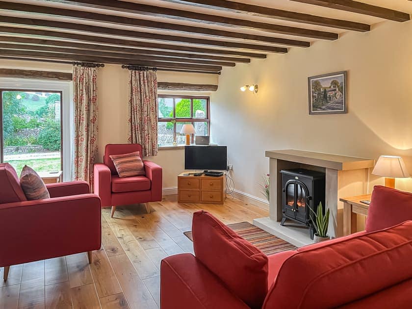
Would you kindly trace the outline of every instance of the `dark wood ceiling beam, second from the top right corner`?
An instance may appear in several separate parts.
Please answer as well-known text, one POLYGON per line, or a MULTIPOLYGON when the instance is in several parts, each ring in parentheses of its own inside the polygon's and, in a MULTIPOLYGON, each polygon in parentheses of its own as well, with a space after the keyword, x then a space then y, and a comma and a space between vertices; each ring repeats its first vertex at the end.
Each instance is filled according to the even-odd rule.
POLYGON ((213 8, 219 11, 244 13, 253 16, 281 19, 289 22, 304 23, 317 26, 327 26, 339 29, 365 32, 370 30, 367 24, 346 20, 327 18, 322 16, 279 10, 272 7, 264 7, 248 3, 227 0, 169 0, 171 2, 190 4, 196 7, 213 8))

